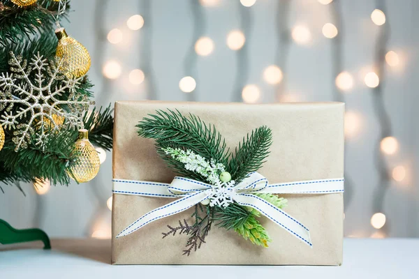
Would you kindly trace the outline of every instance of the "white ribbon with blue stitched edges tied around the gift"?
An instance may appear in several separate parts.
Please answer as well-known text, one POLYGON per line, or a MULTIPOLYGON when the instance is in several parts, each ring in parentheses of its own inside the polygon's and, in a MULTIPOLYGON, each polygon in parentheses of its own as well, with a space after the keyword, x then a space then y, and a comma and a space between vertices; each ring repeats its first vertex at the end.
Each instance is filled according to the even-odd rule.
MULTIPOLYGON (((204 199, 219 198, 217 196, 217 193, 219 193, 219 187, 179 176, 176 176, 170 184, 126 179, 113 179, 112 181, 113 193, 115 194, 140 195, 147 197, 181 197, 174 202, 170 202, 170 204, 154 209, 140 217, 120 232, 117 235, 117 238, 131 234, 137 229, 140 229, 155 220, 185 211, 195 204, 202 202, 204 199)), ((272 220, 272 222, 276 223, 280 227, 283 227, 290 234, 293 234, 293 236, 304 241, 307 245, 312 246, 309 229, 307 227, 302 225, 302 223, 300 223, 297 219, 288 215, 285 211, 282 211, 277 206, 274 206, 274 204, 271 204, 265 199, 253 194, 343 193, 344 179, 321 179, 268 184, 267 179, 263 175, 258 172, 253 172, 242 182, 237 183, 236 186, 229 187, 226 184, 224 186, 226 187, 222 190, 223 198, 228 195, 227 199, 233 200, 242 206, 250 206, 253 209, 256 209, 264 216, 272 220)))

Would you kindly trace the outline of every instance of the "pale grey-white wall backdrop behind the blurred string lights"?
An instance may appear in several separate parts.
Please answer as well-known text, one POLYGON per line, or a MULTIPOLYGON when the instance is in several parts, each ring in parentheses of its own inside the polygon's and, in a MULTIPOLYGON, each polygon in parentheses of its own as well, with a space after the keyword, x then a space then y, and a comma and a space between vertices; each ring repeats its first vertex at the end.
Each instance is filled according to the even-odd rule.
MULTIPOLYGON (((334 5, 340 10, 338 18, 333 16, 331 4, 322 5, 317 0, 257 0, 244 11, 239 0, 212 2, 216 6, 198 7, 200 13, 194 20, 193 7, 197 6, 191 0, 72 0, 71 22, 64 22, 63 26, 91 54, 89 77, 96 84, 96 104, 152 97, 150 75, 154 96, 160 100, 187 100, 191 98, 188 94, 195 94, 199 101, 228 102, 237 96, 237 81, 256 84, 261 93, 260 103, 334 100, 333 65, 341 61, 341 70, 353 76, 353 87, 344 93, 346 109, 358 119, 348 126, 353 130, 346 144, 346 172, 352 187, 346 192, 345 234, 418 237, 419 184, 415 172, 419 170, 419 113, 416 110, 419 103, 419 1, 335 0, 334 5), (280 9, 286 8, 287 3, 288 18, 285 10, 280 9), (374 165, 380 125, 374 112, 376 99, 373 90, 365 85, 364 77, 368 71, 376 70, 376 43, 383 26, 374 24, 370 15, 383 3, 385 24, 390 27, 386 49, 397 52, 400 60, 397 67, 385 65, 385 75, 381 76, 385 110, 390 116, 392 136, 399 143, 398 151, 385 156, 385 162, 390 176, 397 166, 404 167, 406 176, 402 181, 390 181, 382 207, 387 222, 378 231, 372 227, 370 219, 376 213, 373 204, 380 186, 374 165), (138 31, 126 25, 128 17, 135 14, 145 19, 144 27, 138 31), (333 52, 336 38, 328 39, 322 34, 325 23, 337 20, 341 20, 340 56, 333 52), (295 26, 309 29, 308 43, 281 40, 279 31, 295 26), (208 36, 214 41, 210 55, 196 56, 191 52, 194 27, 200 29, 199 36, 208 36), (114 45, 106 36, 115 28, 122 31, 122 42, 114 45), (226 36, 233 29, 245 31, 245 51, 236 52, 226 45, 226 36), (185 68, 187 56, 196 59, 191 69, 185 68), (108 80, 102 74, 103 65, 110 60, 122 66, 122 73, 115 80, 108 80), (283 84, 279 86, 263 80, 263 70, 274 63, 278 63, 284 73, 283 84), (142 84, 134 85, 128 80, 135 68, 145 71, 146 80, 142 84), (193 93, 179 90, 179 80, 185 75, 192 75, 196 80, 193 93)), ((6 193, 0 194, 0 218, 17 228, 41 227, 52 237, 92 234, 110 237, 111 212, 106 202, 112 189, 112 154, 107 155, 101 172, 89 183, 52 187, 45 195, 37 195, 28 184, 23 186, 26 197, 17 188, 3 187, 6 193)))

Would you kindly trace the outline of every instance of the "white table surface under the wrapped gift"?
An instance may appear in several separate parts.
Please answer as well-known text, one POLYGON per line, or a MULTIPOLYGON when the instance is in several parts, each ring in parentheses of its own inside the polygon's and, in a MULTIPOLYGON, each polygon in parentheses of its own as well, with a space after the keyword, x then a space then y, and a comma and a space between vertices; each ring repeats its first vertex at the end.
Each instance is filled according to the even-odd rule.
POLYGON ((110 241, 0 245, 0 278, 419 278, 419 239, 345 239, 342 266, 112 266, 110 241))

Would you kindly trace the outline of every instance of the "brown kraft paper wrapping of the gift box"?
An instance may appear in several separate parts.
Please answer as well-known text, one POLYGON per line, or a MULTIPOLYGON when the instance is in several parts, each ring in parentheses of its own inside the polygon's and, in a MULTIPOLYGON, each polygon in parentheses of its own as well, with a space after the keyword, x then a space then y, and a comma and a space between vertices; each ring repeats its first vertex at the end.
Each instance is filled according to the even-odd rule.
MULTIPOLYGON (((344 176, 344 104, 117 102, 113 144, 113 178, 170 183, 175 176, 156 153, 154 140, 139 137, 135 125, 156 110, 179 110, 213 123, 230 149, 259 126, 272 129, 267 162, 258 172, 270 183, 333 179, 344 176)), ((168 236, 166 225, 191 220, 191 209, 149 223, 115 239, 125 227, 174 199, 113 195, 112 264, 304 264, 342 262, 343 195, 281 195, 284 209, 309 227, 313 248, 265 217, 260 222, 272 238, 269 248, 253 245, 233 231, 213 225, 206 243, 189 257, 182 255, 187 235, 168 236)))

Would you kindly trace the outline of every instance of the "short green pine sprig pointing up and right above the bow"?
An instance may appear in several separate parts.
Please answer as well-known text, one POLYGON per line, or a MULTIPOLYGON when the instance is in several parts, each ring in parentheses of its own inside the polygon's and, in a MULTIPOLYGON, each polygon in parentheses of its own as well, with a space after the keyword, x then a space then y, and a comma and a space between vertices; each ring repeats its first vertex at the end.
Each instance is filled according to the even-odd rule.
POLYGON ((262 167, 270 153, 271 145, 272 130, 267 126, 256 128, 252 130, 251 135, 243 137, 228 164, 228 170, 236 182, 242 181, 247 174, 262 167))

